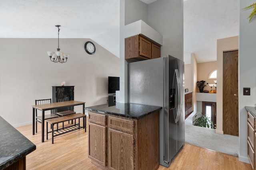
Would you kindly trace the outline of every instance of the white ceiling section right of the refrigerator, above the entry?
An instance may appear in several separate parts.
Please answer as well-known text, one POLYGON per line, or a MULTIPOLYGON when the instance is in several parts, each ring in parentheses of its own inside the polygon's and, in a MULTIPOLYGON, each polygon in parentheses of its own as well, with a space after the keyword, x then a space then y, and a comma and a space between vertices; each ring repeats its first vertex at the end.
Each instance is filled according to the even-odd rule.
POLYGON ((217 39, 238 35, 239 0, 184 0, 184 62, 217 60, 217 39))

